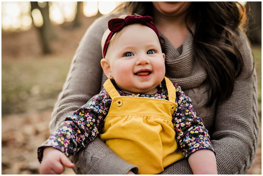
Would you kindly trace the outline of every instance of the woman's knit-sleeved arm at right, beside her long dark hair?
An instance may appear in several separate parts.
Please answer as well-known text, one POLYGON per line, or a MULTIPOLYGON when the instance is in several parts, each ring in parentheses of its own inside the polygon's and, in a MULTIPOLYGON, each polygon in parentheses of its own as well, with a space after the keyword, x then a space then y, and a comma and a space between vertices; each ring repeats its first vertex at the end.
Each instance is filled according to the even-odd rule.
MULTIPOLYGON (((232 95, 218 102, 215 131, 210 134, 219 174, 245 174, 256 154, 259 134, 257 84, 253 56, 244 35, 240 36, 244 68, 232 95), (251 74, 252 73, 252 74, 251 74)), ((227 85, 226 85, 227 86, 227 85)), ((186 159, 166 167, 161 174, 193 174, 186 159)))

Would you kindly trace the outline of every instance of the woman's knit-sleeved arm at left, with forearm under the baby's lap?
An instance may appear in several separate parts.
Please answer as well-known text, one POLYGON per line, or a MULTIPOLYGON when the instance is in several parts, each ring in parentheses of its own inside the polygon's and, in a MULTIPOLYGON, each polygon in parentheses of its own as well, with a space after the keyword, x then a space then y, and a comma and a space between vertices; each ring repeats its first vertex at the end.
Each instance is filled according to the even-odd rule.
MULTIPOLYGON (((111 14, 96 20, 82 38, 70 66, 67 80, 55 104, 50 132, 53 132, 67 116, 73 114, 83 104, 100 92, 102 80, 101 38, 107 29, 108 20, 119 17, 111 14)), ((79 174, 125 174, 138 168, 118 157, 99 138, 95 138, 87 148, 70 157, 79 174)), ((138 172, 138 171, 137 171, 138 172)))

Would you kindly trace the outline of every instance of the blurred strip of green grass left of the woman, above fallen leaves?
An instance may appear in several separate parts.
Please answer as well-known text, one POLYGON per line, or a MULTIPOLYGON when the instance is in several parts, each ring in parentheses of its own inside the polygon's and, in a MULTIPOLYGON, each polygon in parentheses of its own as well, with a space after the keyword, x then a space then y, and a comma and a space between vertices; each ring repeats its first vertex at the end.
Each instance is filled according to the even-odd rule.
POLYGON ((54 56, 2 61, 2 114, 51 109, 71 60, 71 56, 54 56))

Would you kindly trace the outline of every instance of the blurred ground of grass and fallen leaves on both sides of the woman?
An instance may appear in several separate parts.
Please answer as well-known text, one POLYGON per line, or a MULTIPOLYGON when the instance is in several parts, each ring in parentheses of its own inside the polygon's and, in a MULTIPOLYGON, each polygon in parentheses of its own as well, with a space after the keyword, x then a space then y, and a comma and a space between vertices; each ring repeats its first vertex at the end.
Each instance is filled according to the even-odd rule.
MULTIPOLYGON (((261 121, 261 47, 253 51, 261 121)), ((36 148, 49 136, 52 108, 73 55, 2 60, 2 174, 39 174, 36 148)), ((65 172, 72 173, 70 169, 65 172)), ((261 174, 261 136, 248 173, 261 174)))

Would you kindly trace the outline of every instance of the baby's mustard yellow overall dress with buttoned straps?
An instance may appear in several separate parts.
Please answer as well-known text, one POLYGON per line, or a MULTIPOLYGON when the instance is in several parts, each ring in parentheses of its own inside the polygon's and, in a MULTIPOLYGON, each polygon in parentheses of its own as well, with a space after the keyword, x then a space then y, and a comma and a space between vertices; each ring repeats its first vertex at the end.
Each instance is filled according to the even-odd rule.
POLYGON ((176 90, 168 78, 165 81, 169 101, 120 96, 110 79, 103 84, 112 104, 100 138, 118 156, 138 166, 139 174, 158 174, 184 158, 172 123, 176 90))

